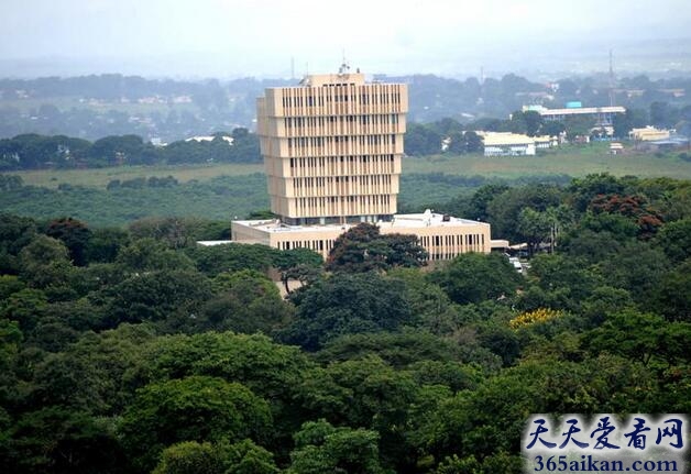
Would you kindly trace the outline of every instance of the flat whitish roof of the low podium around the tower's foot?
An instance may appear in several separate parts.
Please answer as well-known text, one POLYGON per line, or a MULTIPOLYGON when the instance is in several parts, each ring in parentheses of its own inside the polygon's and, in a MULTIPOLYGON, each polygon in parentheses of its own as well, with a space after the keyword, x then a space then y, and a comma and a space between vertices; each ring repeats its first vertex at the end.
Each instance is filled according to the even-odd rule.
MULTIPOLYGON (((358 225, 360 222, 347 224, 315 224, 315 225, 288 225, 277 219, 273 220, 251 220, 251 221, 233 221, 240 225, 254 228, 270 233, 288 233, 288 232, 333 232, 337 230, 349 229, 358 225)), ((440 214, 431 211, 425 211, 416 214, 395 214, 394 219, 388 222, 376 222, 380 228, 395 229, 405 232, 406 229, 419 229, 425 227, 459 227, 459 225, 478 225, 486 224, 485 222, 473 221, 470 219, 454 218, 452 216, 440 214)))

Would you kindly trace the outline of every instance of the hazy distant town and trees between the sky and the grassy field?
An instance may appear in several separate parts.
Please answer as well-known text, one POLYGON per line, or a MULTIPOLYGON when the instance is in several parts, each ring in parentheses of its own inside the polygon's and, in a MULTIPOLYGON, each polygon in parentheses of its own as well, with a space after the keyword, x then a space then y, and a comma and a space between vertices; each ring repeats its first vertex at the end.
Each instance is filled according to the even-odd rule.
MULTIPOLYGON (((396 80, 409 88, 408 155, 529 156, 591 141, 611 142, 612 154, 655 152, 688 147, 691 132, 691 79, 684 78, 603 75, 538 84, 509 74, 500 79, 371 79, 396 80)), ((255 98, 265 87, 292 84, 297 79, 195 82, 122 75, 0 79, 0 137, 6 139, 0 141, 0 169, 95 162, 100 166, 260 162, 253 133, 255 98), (234 130, 248 132, 240 133, 235 146, 234 130), (22 137, 26 134, 40 136, 22 137), (130 135, 138 137, 136 143, 130 135), (220 142, 211 146, 216 136, 220 142), (100 142, 106 137, 107 143, 100 142), (79 152, 90 146, 84 140, 98 143, 97 151, 107 145, 106 151, 89 158, 89 153, 79 152), (24 158, 25 142, 34 150, 36 141, 43 152, 24 158), (111 146, 122 141, 129 145, 111 146), (161 151, 167 144, 175 146, 161 151)))

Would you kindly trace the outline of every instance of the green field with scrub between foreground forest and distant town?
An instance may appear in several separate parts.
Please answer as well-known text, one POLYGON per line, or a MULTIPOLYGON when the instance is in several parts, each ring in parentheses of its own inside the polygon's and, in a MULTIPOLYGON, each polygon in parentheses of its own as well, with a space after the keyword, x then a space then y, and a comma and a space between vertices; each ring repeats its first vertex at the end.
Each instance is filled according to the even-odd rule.
MULTIPOLYGON (((46 169, 13 173, 26 185, 0 192, 0 209, 20 216, 50 219, 72 216, 90 225, 127 225, 147 216, 194 216, 230 220, 268 208, 266 179, 261 164, 46 169), (172 187, 123 187, 107 190, 113 179, 174 176, 172 187), (58 188, 59 184, 63 186, 58 188)), ((401 179, 399 209, 416 211, 470 196, 493 179, 511 183, 539 180, 567 184, 591 173, 616 176, 669 176, 691 179, 691 163, 678 154, 629 153, 613 156, 606 144, 564 147, 524 157, 429 156, 406 157, 401 179)))

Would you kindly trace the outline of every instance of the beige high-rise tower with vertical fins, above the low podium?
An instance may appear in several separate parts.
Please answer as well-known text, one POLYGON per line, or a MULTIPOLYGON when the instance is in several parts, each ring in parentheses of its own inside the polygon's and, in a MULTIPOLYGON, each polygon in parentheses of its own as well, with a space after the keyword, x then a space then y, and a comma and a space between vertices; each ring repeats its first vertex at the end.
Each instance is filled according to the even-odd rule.
POLYGON ((391 221, 407 109, 406 85, 346 67, 266 89, 257 133, 272 212, 293 225, 391 221))

